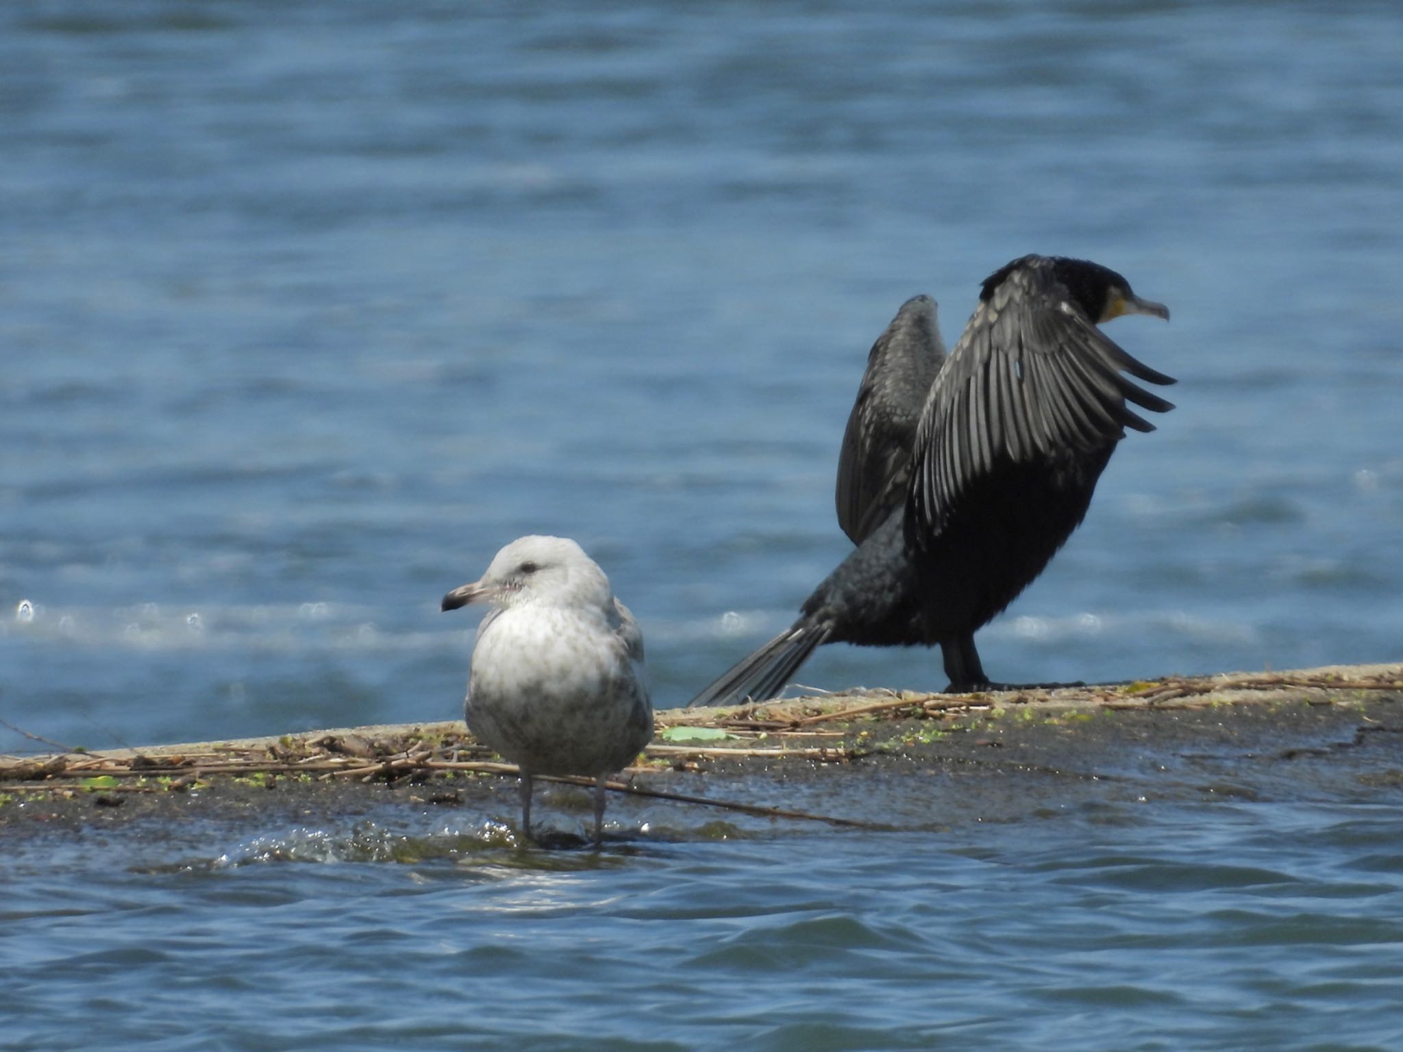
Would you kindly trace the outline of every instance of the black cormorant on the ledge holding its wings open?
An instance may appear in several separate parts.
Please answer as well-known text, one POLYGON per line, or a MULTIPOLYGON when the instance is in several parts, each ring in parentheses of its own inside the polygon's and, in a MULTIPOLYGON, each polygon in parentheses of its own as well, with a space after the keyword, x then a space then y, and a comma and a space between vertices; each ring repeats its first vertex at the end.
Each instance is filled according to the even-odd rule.
POLYGON ((794 624, 689 706, 773 697, 825 642, 940 644, 947 692, 989 687, 975 630, 1082 522, 1125 428, 1155 429, 1127 401, 1173 408, 1121 375, 1174 383, 1097 328, 1121 314, 1169 320, 1100 264, 1024 255, 984 281, 943 356, 934 303, 908 300, 871 349, 843 436, 838 513, 857 550, 794 624))

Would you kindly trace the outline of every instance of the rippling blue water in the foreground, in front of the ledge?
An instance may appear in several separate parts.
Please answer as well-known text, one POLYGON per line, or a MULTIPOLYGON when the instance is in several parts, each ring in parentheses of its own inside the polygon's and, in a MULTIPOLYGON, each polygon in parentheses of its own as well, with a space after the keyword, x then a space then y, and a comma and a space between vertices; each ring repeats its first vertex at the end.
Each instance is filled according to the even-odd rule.
POLYGON ((189 868, 65 870, 62 892, 28 860, 0 1013, 7 1048, 80 1048, 73 1020, 100 1017, 153 1049, 1389 1049, 1397 805, 535 858, 448 828, 290 830, 189 868))

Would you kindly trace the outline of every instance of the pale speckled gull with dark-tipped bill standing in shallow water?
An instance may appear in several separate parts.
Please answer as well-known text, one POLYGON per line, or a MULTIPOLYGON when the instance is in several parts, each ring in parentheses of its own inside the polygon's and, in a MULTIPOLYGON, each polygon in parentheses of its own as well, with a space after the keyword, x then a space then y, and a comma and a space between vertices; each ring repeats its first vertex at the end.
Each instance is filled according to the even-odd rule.
MULTIPOLYGON (((634 760, 652 738, 643 633, 575 541, 512 541, 481 581, 445 596, 443 609, 469 602, 497 609, 473 645, 467 727, 522 769, 528 794, 533 774, 602 784, 634 760)), ((529 822, 529 805, 523 811, 529 822)))

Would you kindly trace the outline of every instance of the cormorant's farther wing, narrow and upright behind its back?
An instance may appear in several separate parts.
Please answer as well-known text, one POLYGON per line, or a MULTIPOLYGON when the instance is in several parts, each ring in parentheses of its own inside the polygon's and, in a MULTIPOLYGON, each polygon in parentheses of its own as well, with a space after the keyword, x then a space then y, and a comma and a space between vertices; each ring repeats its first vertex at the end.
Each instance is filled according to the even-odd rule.
POLYGON ((906 300, 867 355, 838 457, 838 525, 853 544, 906 499, 916 424, 944 358, 929 296, 906 300))

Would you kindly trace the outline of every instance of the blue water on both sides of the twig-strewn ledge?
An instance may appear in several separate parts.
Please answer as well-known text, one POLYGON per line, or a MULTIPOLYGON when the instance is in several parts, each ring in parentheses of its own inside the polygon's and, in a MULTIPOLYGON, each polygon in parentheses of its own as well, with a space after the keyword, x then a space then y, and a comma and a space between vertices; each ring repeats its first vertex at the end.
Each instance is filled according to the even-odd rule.
MULTIPOLYGON (((1181 383, 989 672, 1396 658, 1400 56, 1383 1, 6 6, 0 717, 88 748, 452 718, 474 619, 438 599, 530 532, 595 555, 680 703, 845 554, 899 303, 953 342, 1028 251, 1169 303, 1111 332, 1181 383)), ((836 647, 803 679, 944 682, 836 647)), ((6 878, 0 1041, 1396 1048, 1389 804, 471 879, 87 840, 6 878)))

